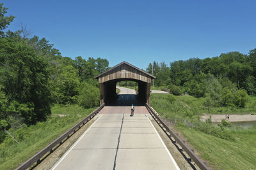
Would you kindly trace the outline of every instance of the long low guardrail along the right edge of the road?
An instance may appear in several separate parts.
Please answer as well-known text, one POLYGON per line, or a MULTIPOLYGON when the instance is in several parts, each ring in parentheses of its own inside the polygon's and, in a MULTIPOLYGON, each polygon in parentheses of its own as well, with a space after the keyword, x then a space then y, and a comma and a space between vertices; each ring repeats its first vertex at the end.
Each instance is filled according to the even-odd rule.
POLYGON ((151 108, 147 103, 146 103, 146 107, 150 113, 150 115, 152 115, 152 117, 156 120, 157 124, 160 125, 160 127, 164 130, 164 132, 168 135, 168 137, 172 140, 171 136, 175 139, 175 143, 178 143, 181 147, 182 150, 184 150, 190 157, 190 159, 192 159, 196 165, 198 167, 200 167, 200 169, 209 169, 209 167, 205 166, 204 162, 202 162, 202 160, 197 157, 195 155, 195 153, 190 150, 188 148, 188 146, 186 146, 186 144, 177 136, 177 134, 175 134, 175 132, 172 131, 172 129, 170 129, 164 122, 163 120, 161 120, 161 118, 158 116, 158 113, 151 108))

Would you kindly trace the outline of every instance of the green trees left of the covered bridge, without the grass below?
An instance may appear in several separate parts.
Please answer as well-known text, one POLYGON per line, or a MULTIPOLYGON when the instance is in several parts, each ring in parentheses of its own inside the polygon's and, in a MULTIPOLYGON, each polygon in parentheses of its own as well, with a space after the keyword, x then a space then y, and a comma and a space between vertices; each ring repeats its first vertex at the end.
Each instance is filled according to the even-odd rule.
POLYGON ((26 27, 6 31, 15 18, 0 4, 0 128, 17 129, 51 115, 52 104, 99 105, 93 76, 109 68, 107 59, 63 57, 45 38, 29 38, 26 27))

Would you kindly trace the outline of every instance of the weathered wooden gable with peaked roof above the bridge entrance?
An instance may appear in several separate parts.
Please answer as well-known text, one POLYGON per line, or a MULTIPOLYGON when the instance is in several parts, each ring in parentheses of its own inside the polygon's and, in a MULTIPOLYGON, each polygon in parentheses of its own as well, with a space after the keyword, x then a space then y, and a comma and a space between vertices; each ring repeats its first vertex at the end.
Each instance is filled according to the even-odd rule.
POLYGON ((152 78, 156 77, 139 69, 138 67, 132 66, 128 62, 121 62, 108 71, 95 76, 95 78, 98 78, 99 83, 118 79, 139 80, 144 81, 145 83, 151 83, 152 78))

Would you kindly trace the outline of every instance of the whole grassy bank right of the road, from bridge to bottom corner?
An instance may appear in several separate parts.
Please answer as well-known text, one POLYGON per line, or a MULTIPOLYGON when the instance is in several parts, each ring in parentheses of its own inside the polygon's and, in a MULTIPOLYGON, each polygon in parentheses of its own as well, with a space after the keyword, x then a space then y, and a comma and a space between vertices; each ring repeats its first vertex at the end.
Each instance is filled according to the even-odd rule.
MULTIPOLYGON (((255 99, 250 97, 247 108, 236 111, 244 113, 250 111, 250 106, 254 106, 255 99)), ((243 129, 242 127, 214 127, 210 123, 200 122, 198 116, 204 110, 202 100, 192 96, 151 94, 150 105, 161 117, 173 122, 175 128, 184 134, 188 142, 214 169, 255 169, 256 125, 243 129), (189 107, 184 106, 184 103, 189 107)))

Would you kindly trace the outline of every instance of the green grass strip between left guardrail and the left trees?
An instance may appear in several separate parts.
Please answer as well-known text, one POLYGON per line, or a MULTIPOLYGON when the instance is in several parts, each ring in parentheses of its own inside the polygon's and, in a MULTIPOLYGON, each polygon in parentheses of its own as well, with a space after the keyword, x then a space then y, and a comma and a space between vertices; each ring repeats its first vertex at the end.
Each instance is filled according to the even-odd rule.
POLYGON ((19 163, 25 162, 36 152, 49 145, 94 109, 84 109, 78 105, 55 105, 51 109, 52 116, 46 122, 38 122, 36 125, 11 131, 13 136, 17 138, 22 136, 22 138, 19 143, 13 143, 12 138, 6 138, 1 143, 0 169, 15 169, 19 163))

